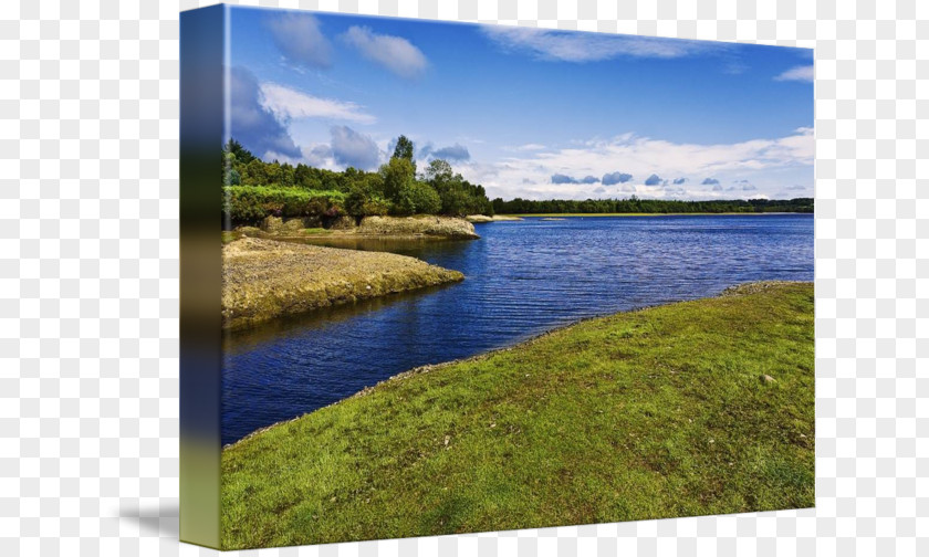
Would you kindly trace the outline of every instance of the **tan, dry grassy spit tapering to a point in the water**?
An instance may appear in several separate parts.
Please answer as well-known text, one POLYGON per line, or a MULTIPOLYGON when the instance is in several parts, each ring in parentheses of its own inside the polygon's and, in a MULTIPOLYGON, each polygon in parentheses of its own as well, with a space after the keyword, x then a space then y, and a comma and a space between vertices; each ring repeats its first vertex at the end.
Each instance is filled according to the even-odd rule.
POLYGON ((395 253, 242 238, 222 246, 222 328, 463 278, 395 253))

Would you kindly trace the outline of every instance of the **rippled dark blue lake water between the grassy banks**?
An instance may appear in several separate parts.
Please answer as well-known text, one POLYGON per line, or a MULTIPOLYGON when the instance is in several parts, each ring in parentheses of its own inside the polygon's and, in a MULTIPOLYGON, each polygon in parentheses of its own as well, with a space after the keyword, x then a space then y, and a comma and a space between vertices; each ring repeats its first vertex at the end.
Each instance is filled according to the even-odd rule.
MULTIPOLYGON (((459 284, 284 319, 225 341, 222 442, 426 364, 577 319, 813 280, 813 216, 531 218, 473 241, 357 241, 464 273, 459 284)), ((331 242, 314 240, 313 243, 331 242)))

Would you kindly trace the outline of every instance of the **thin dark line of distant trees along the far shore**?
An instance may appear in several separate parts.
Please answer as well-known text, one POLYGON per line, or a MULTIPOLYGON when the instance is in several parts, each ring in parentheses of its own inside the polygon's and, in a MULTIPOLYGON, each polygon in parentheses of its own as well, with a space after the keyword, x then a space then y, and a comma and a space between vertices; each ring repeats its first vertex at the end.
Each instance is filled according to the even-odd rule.
POLYGON ((533 201, 516 198, 492 201, 493 211, 499 214, 537 213, 758 213, 758 212, 813 212, 812 198, 796 199, 733 199, 710 201, 669 201, 661 199, 549 199, 533 201))

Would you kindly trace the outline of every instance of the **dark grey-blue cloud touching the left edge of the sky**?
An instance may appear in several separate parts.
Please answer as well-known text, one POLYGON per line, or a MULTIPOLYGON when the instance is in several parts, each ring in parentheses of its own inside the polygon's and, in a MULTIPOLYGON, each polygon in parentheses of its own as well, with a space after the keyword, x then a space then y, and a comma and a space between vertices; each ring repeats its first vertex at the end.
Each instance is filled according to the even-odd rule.
POLYGON ((301 151, 286 127, 262 105, 261 88, 254 74, 233 66, 229 75, 231 136, 260 157, 273 154, 300 158, 301 151))

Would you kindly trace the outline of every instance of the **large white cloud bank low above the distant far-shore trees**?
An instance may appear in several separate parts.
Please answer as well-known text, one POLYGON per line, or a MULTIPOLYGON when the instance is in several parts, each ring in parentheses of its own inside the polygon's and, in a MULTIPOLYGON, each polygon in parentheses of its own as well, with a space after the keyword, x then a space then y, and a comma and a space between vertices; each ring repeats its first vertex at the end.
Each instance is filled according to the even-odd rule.
POLYGON ((759 195, 780 192, 784 179, 808 179, 812 183, 813 159, 813 129, 798 128, 786 137, 714 145, 676 144, 626 134, 583 141, 570 148, 508 157, 493 165, 456 165, 456 170, 469 180, 482 183, 489 196, 507 199, 588 196, 589 186, 552 183, 551 177, 555 174, 604 176, 617 168, 633 178, 623 185, 610 185, 602 197, 636 193, 692 199, 732 197, 731 192, 713 191, 711 185, 702 185, 707 176, 720 181, 750 178, 758 186, 759 195), (664 181, 646 186, 653 175, 688 180, 670 188, 664 181), (521 186, 514 189, 513 185, 521 186))

